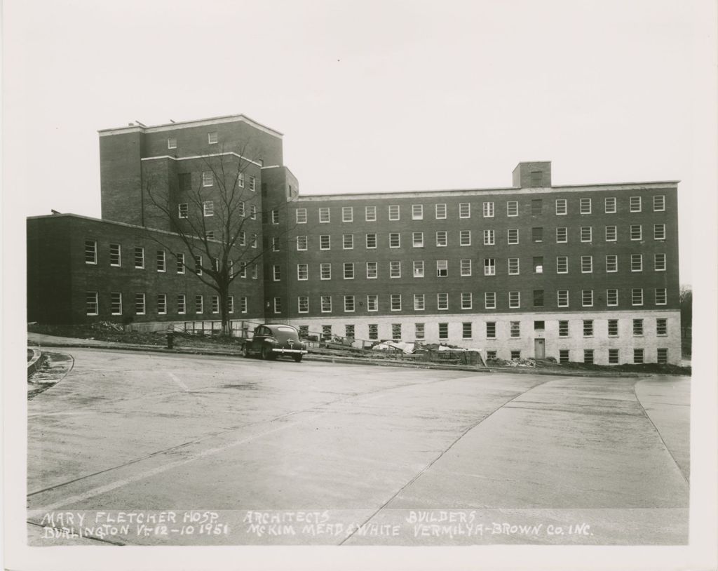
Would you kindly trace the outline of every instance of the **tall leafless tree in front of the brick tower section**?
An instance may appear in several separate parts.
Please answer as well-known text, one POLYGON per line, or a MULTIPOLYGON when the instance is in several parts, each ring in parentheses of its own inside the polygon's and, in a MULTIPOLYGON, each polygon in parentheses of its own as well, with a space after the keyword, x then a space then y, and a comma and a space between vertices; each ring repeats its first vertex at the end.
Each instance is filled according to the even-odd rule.
POLYGON ((199 157, 202 172, 180 173, 176 190, 174 180, 164 173, 150 175, 145 183, 149 206, 154 208, 148 226, 161 228, 169 223, 172 232, 169 236, 151 232, 151 239, 172 251, 171 238, 179 238, 189 259, 185 256, 178 263, 218 293, 225 335, 231 334, 230 284, 276 248, 276 241, 283 241, 290 230, 289 220, 281 214, 281 210, 286 213, 288 201, 266 203, 260 189, 252 187, 255 178, 245 176, 249 169, 258 167, 245 152, 220 149, 219 153, 199 157), (270 215, 281 215, 284 223, 273 227, 274 243, 268 246, 256 226, 270 215))

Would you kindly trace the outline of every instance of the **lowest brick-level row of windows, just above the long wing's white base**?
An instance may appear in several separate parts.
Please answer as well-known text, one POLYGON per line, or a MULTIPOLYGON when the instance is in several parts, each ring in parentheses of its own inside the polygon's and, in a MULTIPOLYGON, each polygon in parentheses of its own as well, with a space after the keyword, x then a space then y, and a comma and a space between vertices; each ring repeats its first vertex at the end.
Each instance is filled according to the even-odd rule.
MULTIPOLYGON (((499 292, 503 294, 503 292, 499 292)), ((543 289, 533 290, 533 307, 545 307, 546 305, 546 292, 543 289)), ((461 292, 460 294, 460 307, 462 310, 474 309, 474 294, 472 292, 461 292)), ((431 294, 433 297, 433 294, 431 294)), ((320 311, 322 313, 330 313, 334 310, 332 306, 332 300, 334 297, 331 295, 320 295, 320 311)), ((354 312, 357 310, 358 305, 364 305, 363 300, 358 300, 358 296, 353 294, 346 294, 340 298, 343 301, 343 310, 345 312, 354 312)), ((436 305, 429 308, 426 303, 427 294, 417 293, 413 294, 413 308, 414 311, 424 311, 427 309, 447 311, 449 310, 449 293, 440 292, 436 294, 436 305)), ((581 306, 582 307, 595 307, 595 291, 593 289, 582 289, 580 292, 581 306)), ((402 295, 401 294, 389 294, 389 310, 401 311, 402 295)), ((495 310, 497 309, 497 292, 484 292, 483 294, 483 309, 495 310)), ((667 292, 665 287, 658 287, 654 290, 653 301, 655 305, 666 305, 667 292)), ((503 297, 503 303, 508 302, 509 309, 520 309, 521 308, 521 292, 507 292, 506 296, 503 297)), ((630 302, 635 307, 640 307, 644 303, 643 288, 634 288, 630 290, 630 302)), ((617 307, 618 305, 618 290, 607 289, 605 292, 605 305, 606 307, 617 307)), ((556 306, 557 307, 569 307, 569 290, 559 289, 556 291, 556 306)), ((369 312, 379 311, 379 295, 368 294, 366 296, 366 310, 369 312)), ((274 297, 274 312, 281 313, 281 297, 274 297)), ((297 311, 299 313, 309 313, 309 296, 297 297, 297 311)))

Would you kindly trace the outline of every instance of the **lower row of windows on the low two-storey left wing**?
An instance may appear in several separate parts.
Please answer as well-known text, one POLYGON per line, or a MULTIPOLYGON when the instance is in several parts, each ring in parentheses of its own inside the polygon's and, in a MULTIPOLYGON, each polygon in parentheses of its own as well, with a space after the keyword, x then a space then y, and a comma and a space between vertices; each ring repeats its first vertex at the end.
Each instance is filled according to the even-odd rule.
MULTIPOLYGON (((122 292, 111 292, 109 297, 109 307, 111 315, 123 314, 123 296, 122 292)), ((134 314, 147 315, 149 313, 147 297, 144 293, 134 294, 134 314)), ((172 312, 172 308, 168 305, 167 294, 157 294, 155 297, 155 312, 157 315, 167 315, 172 312)), ((228 312, 234 313, 234 297, 227 299, 228 312)), ((85 292, 85 314, 98 315, 100 311, 100 301, 98 292, 85 292)), ((194 306, 187 308, 187 296, 185 294, 177 294, 174 297, 174 313, 177 315, 185 315, 187 313, 204 313, 205 312, 205 296, 202 294, 195 295, 194 306)), ((218 314, 220 312, 220 298, 218 295, 210 296, 210 312, 218 314)), ((239 298, 239 312, 247 312, 247 298, 239 298)))

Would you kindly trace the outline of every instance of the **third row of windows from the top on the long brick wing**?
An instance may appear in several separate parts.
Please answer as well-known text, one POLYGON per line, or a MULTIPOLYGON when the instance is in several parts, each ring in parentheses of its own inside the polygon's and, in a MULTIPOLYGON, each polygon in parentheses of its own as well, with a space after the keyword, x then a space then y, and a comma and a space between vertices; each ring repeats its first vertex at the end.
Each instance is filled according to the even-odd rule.
MULTIPOLYGON (((637 272, 643 271, 643 254, 627 254, 625 257, 630 256, 630 271, 637 272)), ((624 257, 624 256, 622 256, 624 257)), ((404 262, 405 264, 408 262, 404 262)), ((424 260, 414 260, 413 265, 413 276, 415 278, 423 278, 425 276, 424 271, 424 260)), ((462 277, 470 277, 472 275, 472 260, 462 259, 459 260, 459 271, 462 277)), ((359 262, 345 261, 342 262, 342 278, 343 279, 355 279, 357 276, 355 272, 355 266, 360 266, 359 262)), ((437 277, 448 277, 449 275, 449 260, 437 260, 437 277)), ((366 267, 366 278, 367 279, 378 279, 379 277, 379 265, 376 261, 365 262, 366 267)), ((496 275, 496 259, 485 258, 484 259, 484 275, 495 276, 496 275)), ((521 274, 521 258, 508 258, 507 259, 508 275, 519 275, 521 274)), ((388 262, 388 275, 390 278, 401 278, 401 260, 393 260, 388 262)), ((580 263, 582 274, 591 274, 594 271, 593 256, 581 256, 580 263)), ((531 269, 533 274, 544 273, 544 256, 533 256, 531 258, 531 269)), ((332 279, 332 264, 330 262, 322 262, 319 264, 319 278, 320 279, 332 279)), ((274 264, 272 266, 272 279, 275 282, 281 281, 282 266, 280 264, 274 264)), ((618 256, 617 254, 610 254, 605 256, 605 271, 607 273, 615 273, 618 271, 618 256)), ((653 271, 666 271, 666 254, 653 254, 653 271)), ((556 256, 556 274, 568 274, 569 273, 569 256, 556 256)), ((297 279, 301 281, 309 280, 309 264, 297 264, 297 279)))

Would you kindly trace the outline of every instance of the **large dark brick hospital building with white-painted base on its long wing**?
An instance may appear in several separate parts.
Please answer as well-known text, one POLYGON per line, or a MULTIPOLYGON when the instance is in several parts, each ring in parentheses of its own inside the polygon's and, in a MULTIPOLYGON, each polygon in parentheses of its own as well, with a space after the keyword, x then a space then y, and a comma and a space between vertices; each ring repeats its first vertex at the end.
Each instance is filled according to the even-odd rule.
POLYGON ((680 361, 676 181, 554 186, 550 162, 521 162, 502 188, 302 195, 281 143, 241 115, 100 131, 102 219, 27 221, 28 319, 218 320, 176 234, 192 216, 223 231, 212 159, 242 165, 233 319, 500 358, 680 361))

